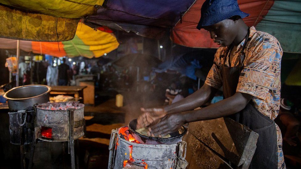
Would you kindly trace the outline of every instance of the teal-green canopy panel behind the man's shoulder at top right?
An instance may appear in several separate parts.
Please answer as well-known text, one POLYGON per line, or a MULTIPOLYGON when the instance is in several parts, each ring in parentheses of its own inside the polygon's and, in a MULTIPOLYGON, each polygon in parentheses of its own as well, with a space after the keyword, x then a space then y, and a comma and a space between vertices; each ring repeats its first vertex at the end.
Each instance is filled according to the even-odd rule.
POLYGON ((256 29, 274 35, 283 51, 301 53, 301 1, 275 1, 256 29))

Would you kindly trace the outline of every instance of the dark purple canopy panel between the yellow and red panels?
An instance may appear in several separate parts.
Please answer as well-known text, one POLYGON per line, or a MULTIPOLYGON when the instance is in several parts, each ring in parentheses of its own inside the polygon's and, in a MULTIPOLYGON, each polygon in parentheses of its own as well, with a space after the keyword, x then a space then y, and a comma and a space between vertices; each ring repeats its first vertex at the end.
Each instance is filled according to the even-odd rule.
MULTIPOLYGON (((151 34, 158 37, 158 35, 162 35, 162 31, 174 27, 195 1, 108 0, 97 10, 97 15, 89 16, 85 22, 98 25, 101 25, 101 22, 102 24, 113 22, 122 30, 133 31, 147 37, 150 34, 146 32, 151 30, 151 34), (161 31, 159 31, 160 29, 161 31)), ((106 26, 112 25, 106 24, 106 26)))

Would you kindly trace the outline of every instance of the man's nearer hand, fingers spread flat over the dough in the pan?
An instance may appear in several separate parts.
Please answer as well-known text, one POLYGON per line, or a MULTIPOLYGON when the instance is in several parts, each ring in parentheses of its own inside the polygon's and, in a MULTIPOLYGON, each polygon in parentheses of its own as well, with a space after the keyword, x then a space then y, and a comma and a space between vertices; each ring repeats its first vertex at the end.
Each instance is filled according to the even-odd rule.
POLYGON ((150 135, 153 137, 163 137, 178 131, 183 124, 183 116, 180 113, 168 114, 159 119, 157 124, 150 125, 150 135))

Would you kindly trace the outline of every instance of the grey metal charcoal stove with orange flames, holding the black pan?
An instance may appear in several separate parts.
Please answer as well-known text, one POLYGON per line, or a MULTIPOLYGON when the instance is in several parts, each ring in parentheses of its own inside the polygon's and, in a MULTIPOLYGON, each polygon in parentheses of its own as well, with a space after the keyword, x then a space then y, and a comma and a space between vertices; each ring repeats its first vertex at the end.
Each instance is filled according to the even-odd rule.
POLYGON ((185 127, 172 133, 171 138, 155 138, 135 133, 136 123, 135 119, 128 126, 112 130, 108 169, 186 168, 186 142, 182 141, 185 127))

